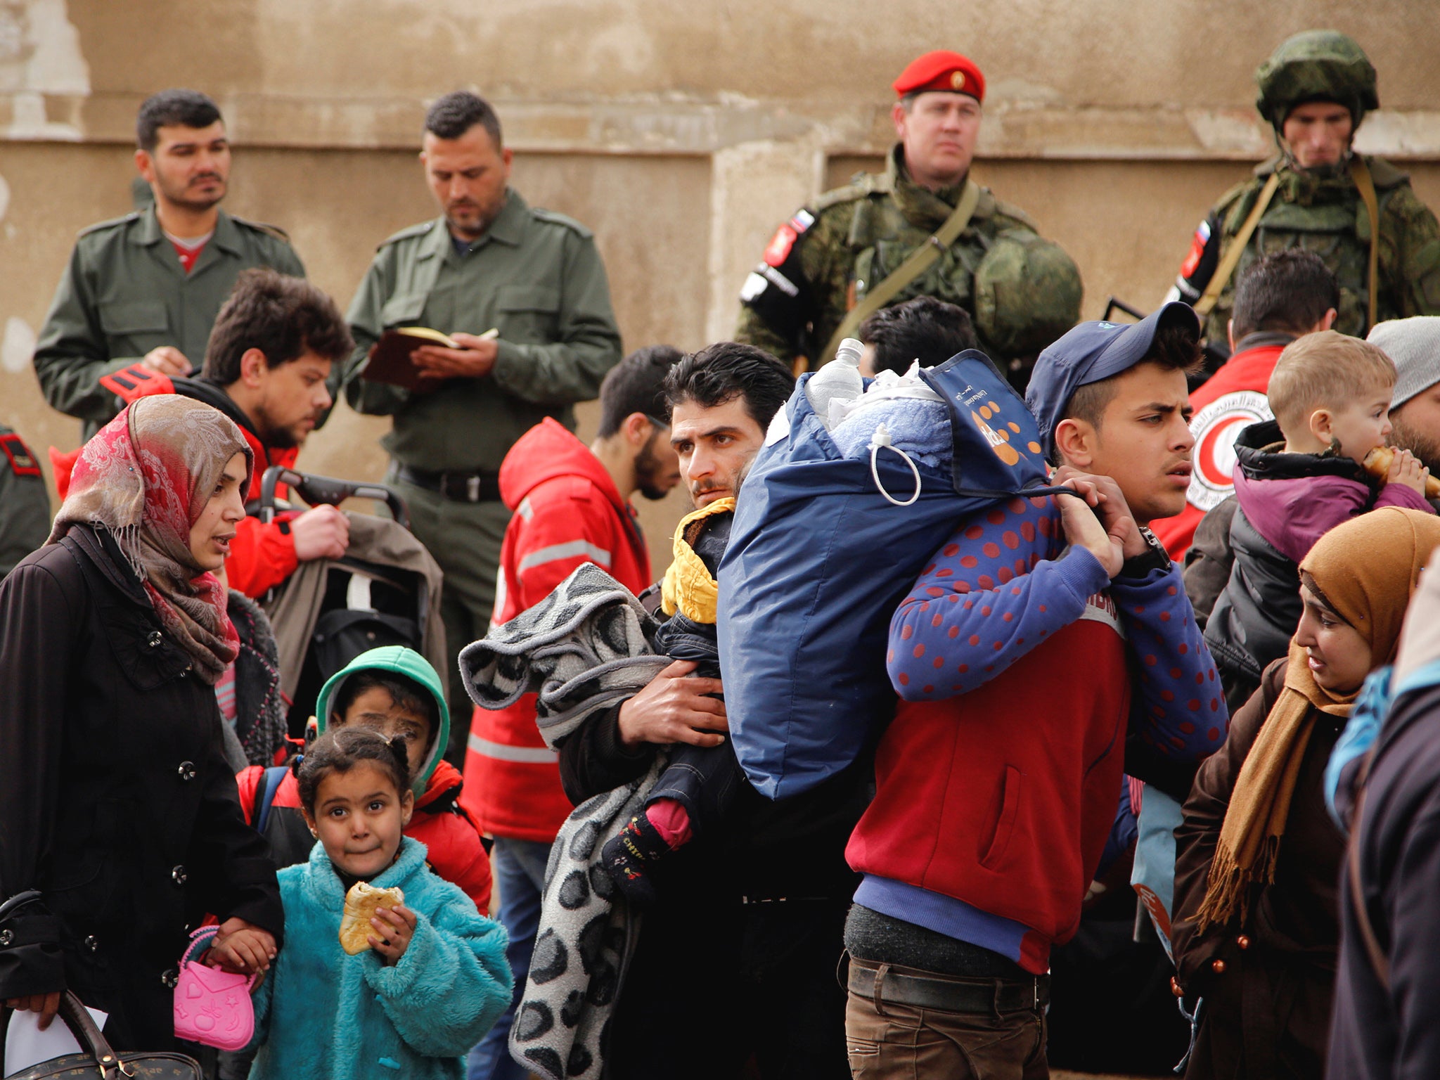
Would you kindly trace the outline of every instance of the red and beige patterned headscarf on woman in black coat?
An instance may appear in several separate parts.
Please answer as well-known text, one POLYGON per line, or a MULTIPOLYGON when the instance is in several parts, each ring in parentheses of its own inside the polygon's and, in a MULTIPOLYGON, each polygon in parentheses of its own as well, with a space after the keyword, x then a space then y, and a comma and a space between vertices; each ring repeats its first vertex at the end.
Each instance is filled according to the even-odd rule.
POLYGON ((225 586, 190 553, 190 526, 236 454, 248 490, 255 458, 233 420, 190 397, 141 397, 85 444, 48 541, 75 524, 109 530, 161 625, 212 684, 239 655, 239 636, 225 586))

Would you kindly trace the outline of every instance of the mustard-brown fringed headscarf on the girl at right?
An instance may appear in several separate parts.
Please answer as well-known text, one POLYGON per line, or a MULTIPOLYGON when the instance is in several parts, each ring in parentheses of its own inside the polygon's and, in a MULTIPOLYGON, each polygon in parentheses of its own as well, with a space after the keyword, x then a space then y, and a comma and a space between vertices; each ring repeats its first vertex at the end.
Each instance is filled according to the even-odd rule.
MULTIPOLYGON (((1395 658, 1405 606, 1430 553, 1440 546, 1440 518, 1384 507, 1322 536, 1300 563, 1325 599, 1369 642, 1371 670, 1395 658)), ((1332 694, 1315 681, 1303 648, 1290 642, 1284 688, 1240 768, 1210 864, 1200 929, 1247 914, 1250 888, 1274 880, 1274 860, 1319 708, 1349 716, 1359 694, 1332 694)))

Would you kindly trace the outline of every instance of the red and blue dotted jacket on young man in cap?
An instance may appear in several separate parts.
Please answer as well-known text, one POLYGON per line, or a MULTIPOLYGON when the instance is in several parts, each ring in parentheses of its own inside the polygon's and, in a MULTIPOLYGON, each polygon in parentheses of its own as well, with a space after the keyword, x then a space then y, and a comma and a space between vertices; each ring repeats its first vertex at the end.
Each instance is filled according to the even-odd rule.
POLYGON ((1048 497, 960 523, 891 619, 888 668, 855 901, 1035 973, 1080 923, 1128 737, 1194 762, 1228 730, 1179 567, 1110 580, 1048 497))

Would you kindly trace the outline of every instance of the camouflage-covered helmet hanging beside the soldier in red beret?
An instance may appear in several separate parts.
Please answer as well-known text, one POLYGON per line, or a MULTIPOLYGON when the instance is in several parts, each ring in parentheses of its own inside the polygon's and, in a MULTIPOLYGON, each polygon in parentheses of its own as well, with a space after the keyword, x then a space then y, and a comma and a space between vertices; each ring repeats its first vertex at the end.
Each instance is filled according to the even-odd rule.
POLYGON ((995 238, 975 271, 975 328, 999 353, 1038 353, 1080 320, 1080 268, 1030 230, 995 238))

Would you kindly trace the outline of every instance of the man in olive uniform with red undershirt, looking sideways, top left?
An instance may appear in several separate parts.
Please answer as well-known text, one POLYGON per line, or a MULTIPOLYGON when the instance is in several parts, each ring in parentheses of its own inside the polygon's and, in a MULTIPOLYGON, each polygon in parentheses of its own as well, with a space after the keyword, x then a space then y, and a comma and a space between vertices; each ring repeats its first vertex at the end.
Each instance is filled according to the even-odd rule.
POLYGON ((199 366, 242 269, 305 276, 285 233, 220 209, 230 144, 213 101, 161 91, 140 107, 135 138, 154 204, 79 235, 35 350, 46 400, 84 420, 86 439, 120 412, 109 376, 199 366))

